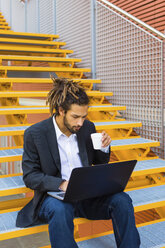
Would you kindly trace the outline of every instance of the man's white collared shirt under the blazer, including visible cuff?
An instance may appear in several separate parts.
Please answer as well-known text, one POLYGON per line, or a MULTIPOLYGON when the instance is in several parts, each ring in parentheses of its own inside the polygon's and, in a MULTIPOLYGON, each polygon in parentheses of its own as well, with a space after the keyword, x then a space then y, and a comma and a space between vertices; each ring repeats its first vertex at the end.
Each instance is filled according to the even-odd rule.
MULTIPOLYGON (((53 116, 53 124, 56 132, 57 144, 60 155, 61 176, 62 179, 68 181, 72 170, 74 168, 82 167, 77 142, 77 135, 71 134, 68 137, 64 133, 62 133, 56 123, 55 116, 53 116)), ((101 151, 108 153, 109 146, 101 148, 101 151)))

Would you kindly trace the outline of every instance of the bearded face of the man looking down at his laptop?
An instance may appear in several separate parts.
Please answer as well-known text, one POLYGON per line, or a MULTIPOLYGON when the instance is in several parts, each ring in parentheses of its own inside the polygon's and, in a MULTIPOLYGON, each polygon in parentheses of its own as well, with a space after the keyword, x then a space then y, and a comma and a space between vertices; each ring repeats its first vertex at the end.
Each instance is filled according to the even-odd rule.
POLYGON ((88 105, 72 104, 70 110, 63 115, 63 124, 70 133, 77 133, 88 114, 88 105))

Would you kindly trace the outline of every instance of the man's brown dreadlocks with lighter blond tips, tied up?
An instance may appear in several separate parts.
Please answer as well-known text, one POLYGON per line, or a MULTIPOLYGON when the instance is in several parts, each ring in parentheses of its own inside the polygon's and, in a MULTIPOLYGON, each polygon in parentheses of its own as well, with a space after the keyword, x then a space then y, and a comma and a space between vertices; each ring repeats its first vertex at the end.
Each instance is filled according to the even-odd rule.
POLYGON ((54 110, 56 115, 59 115, 59 107, 62 107, 65 112, 70 109, 72 104, 88 105, 89 98, 84 90, 78 83, 66 78, 54 78, 53 88, 47 96, 47 104, 50 107, 50 113, 53 115, 54 110))

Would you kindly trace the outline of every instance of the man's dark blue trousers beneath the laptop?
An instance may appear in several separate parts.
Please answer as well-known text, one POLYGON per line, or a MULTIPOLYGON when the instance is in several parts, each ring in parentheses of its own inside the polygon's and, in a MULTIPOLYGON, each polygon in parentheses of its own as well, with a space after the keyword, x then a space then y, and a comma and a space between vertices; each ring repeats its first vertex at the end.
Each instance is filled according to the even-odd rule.
POLYGON ((40 212, 40 219, 49 224, 52 248, 77 248, 74 240, 75 217, 91 220, 112 219, 118 248, 139 248, 140 238, 135 226, 134 210, 130 197, 122 192, 70 204, 47 196, 40 212))

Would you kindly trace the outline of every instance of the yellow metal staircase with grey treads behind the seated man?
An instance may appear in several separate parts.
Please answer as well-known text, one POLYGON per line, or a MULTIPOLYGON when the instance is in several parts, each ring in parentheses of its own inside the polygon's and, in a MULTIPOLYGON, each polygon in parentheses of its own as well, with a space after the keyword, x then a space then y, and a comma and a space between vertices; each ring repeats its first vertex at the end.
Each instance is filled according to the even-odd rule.
MULTIPOLYGON (((14 168, 15 162, 22 159, 24 130, 33 124, 29 121, 28 115, 32 115, 33 122, 36 122, 40 120, 41 114, 46 116, 49 114, 49 108, 45 106, 45 98, 51 88, 52 80, 49 77, 31 77, 31 73, 51 72, 57 77, 71 78, 86 88, 90 98, 88 119, 95 123, 98 132, 105 130, 112 137, 111 162, 138 160, 126 191, 133 199, 135 212, 155 209, 160 218, 151 223, 143 223, 139 227, 142 247, 163 247, 165 245, 165 239, 162 238, 165 234, 165 161, 152 151, 152 147, 159 146, 159 142, 144 139, 135 132, 133 128, 138 128, 142 124, 122 118, 121 112, 126 110, 126 107, 113 106, 106 99, 107 96, 113 95, 112 92, 92 90, 93 84, 101 81, 87 78, 86 73, 89 73, 90 69, 75 66, 75 63, 80 62, 81 59, 67 57, 73 51, 62 49, 65 43, 56 40, 58 35, 9 31, 10 27, 5 23, 2 15, 0 19, 0 29, 2 29, 0 30, 0 116, 5 116, 7 120, 6 124, 0 126, 0 137, 13 138, 12 145, 3 146, 1 142, 0 163, 5 163, 6 167, 12 164, 12 170, 10 174, 5 175, 1 168, 0 196, 21 196, 19 199, 5 198, 1 201, 0 240, 47 230, 47 225, 26 229, 16 228, 17 212, 31 199, 32 191, 25 187, 21 171, 15 173, 14 168), (23 74, 25 72, 26 76, 23 74), (26 99, 30 105, 26 105, 26 99), (42 103, 39 106, 35 104, 38 99, 39 103, 42 103), (159 232, 159 230, 163 231, 159 232), (146 237, 150 242, 147 243, 146 237)), ((78 226, 88 222, 85 219, 75 219, 75 235, 80 247, 103 247, 100 245, 102 243, 105 247, 109 247, 106 240, 111 238, 114 240, 111 233, 78 237, 78 226)), ((111 247, 115 247, 113 242, 111 247)))

